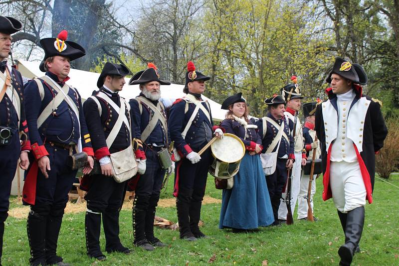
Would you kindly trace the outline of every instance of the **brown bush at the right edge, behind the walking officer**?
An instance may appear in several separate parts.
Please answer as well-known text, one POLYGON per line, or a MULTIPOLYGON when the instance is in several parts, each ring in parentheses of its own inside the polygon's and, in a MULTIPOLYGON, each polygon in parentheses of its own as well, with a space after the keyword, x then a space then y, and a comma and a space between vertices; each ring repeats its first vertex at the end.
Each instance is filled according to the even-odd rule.
POLYGON ((376 172, 388 179, 399 166, 399 117, 392 117, 387 121, 388 135, 384 147, 376 155, 376 172))

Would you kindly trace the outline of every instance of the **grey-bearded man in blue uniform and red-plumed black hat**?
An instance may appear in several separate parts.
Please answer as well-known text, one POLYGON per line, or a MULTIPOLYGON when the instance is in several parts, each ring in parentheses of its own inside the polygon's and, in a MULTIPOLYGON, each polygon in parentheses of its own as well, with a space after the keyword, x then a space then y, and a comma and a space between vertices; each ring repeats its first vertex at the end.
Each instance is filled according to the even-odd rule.
MULTIPOLYGON (((133 234, 137 247, 152 251, 154 247, 166 246, 154 236, 154 217, 167 170, 161 164, 158 153, 165 150, 168 153, 169 146, 166 110, 159 101, 160 86, 171 83, 160 80, 157 67, 149 63, 147 69, 130 79, 129 85, 137 84, 141 93, 129 102, 132 131, 139 143, 137 153, 141 153, 139 176, 133 180, 137 182, 133 202, 133 234)), ((169 167, 169 172, 171 170, 172 167, 169 167)))

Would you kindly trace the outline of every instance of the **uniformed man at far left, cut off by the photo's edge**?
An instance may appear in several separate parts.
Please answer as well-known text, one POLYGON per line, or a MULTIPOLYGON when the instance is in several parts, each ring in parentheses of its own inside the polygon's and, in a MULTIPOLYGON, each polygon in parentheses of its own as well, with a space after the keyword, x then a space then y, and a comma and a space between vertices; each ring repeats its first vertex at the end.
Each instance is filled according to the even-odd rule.
POLYGON ((8 217, 11 182, 18 158, 20 167, 29 165, 30 142, 23 106, 21 74, 7 64, 11 51, 11 34, 22 28, 21 23, 9 16, 0 16, 0 265, 3 247, 4 221, 8 217), (19 134, 23 134, 22 145, 19 134))

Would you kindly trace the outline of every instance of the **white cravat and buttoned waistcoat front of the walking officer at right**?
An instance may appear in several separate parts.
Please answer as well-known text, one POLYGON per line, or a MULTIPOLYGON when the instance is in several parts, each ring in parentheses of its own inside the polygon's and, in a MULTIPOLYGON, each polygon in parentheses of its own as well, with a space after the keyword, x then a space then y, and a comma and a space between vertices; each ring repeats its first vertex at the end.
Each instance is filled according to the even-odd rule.
POLYGON ((356 151, 353 147, 353 141, 347 137, 348 113, 355 96, 356 95, 353 90, 350 90, 344 94, 337 94, 338 133, 337 138, 332 144, 331 161, 357 161, 356 151))

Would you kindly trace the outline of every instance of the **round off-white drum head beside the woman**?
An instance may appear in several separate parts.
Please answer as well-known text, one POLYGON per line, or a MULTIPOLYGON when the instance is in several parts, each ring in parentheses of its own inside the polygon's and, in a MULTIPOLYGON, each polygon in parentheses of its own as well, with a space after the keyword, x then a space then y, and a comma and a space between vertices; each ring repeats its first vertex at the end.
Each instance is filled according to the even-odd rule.
POLYGON ((217 139, 210 145, 212 154, 223 162, 236 162, 245 154, 245 146, 241 139, 234 134, 225 133, 222 139, 217 139))

